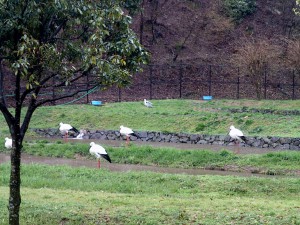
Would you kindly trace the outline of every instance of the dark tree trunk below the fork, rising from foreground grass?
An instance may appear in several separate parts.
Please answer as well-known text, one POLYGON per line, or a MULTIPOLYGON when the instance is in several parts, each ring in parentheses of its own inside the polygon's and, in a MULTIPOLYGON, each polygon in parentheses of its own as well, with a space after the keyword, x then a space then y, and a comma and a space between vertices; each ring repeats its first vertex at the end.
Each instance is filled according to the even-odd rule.
POLYGON ((19 211, 21 204, 21 144, 19 141, 13 140, 13 148, 11 149, 11 173, 10 173, 10 194, 9 194, 9 224, 19 225, 19 211))

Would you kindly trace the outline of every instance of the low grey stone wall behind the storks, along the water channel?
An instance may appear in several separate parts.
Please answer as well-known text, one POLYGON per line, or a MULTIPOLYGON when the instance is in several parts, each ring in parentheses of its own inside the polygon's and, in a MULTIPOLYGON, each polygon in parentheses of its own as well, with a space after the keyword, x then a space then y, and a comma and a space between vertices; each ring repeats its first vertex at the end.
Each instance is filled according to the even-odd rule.
MULTIPOLYGON (((48 137, 62 137, 57 129, 33 129, 37 134, 48 137)), ((203 135, 203 134, 176 134, 162 133, 151 131, 136 132, 139 136, 131 136, 131 141, 147 141, 147 142, 172 142, 172 143, 188 143, 188 144, 208 144, 208 145, 234 145, 233 139, 228 135, 203 135)), ((70 134, 71 137, 75 137, 70 134)), ((84 139, 99 139, 99 140, 125 140, 126 137, 120 135, 119 131, 115 130, 87 130, 85 131, 84 139)), ((246 143, 241 143, 241 146, 256 147, 256 148, 273 148, 273 149, 291 149, 300 150, 300 138, 288 137, 246 137, 246 143)))

